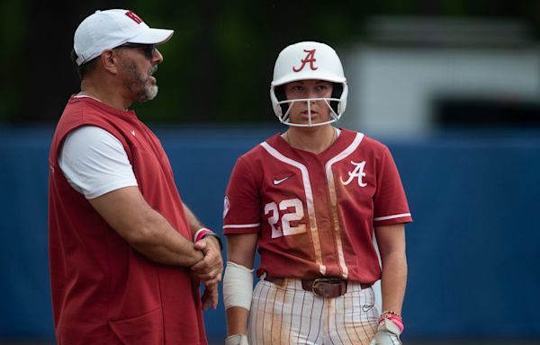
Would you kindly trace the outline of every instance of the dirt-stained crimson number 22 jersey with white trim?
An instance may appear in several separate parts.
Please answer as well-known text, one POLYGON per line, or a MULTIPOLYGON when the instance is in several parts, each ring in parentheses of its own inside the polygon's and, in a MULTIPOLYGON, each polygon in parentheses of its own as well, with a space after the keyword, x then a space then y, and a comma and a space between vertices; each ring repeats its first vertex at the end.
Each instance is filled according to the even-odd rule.
POLYGON ((319 155, 279 134, 238 158, 224 234, 258 233, 257 276, 380 279, 374 226, 412 221, 386 146, 348 129, 319 155))

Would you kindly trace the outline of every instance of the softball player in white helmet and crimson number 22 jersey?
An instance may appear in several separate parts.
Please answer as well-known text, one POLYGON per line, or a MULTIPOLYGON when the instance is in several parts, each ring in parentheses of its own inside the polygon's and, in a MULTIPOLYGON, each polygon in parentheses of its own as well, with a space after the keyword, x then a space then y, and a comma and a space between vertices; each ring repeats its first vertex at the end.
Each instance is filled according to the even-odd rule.
POLYGON ((346 109, 347 80, 326 44, 286 47, 270 96, 290 127, 238 158, 225 197, 226 343, 400 343, 412 218, 390 151, 331 125, 346 109))

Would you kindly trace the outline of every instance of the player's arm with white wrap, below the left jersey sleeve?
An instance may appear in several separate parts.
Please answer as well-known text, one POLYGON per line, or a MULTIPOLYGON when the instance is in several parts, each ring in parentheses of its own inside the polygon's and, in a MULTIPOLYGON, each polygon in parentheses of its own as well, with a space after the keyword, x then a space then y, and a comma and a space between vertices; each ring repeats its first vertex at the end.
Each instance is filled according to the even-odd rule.
POLYGON ((223 281, 223 299, 229 337, 247 333, 257 239, 258 233, 227 235, 228 262, 223 281))

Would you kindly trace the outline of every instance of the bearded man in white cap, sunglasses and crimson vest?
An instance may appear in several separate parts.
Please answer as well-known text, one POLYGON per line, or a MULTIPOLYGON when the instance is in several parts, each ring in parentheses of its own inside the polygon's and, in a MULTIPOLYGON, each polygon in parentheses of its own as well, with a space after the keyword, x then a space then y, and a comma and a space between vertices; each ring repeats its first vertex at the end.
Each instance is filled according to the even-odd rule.
POLYGON ((218 303, 219 237, 185 207, 159 140, 129 110, 156 97, 156 45, 172 35, 127 10, 97 11, 76 29, 81 91, 49 155, 58 344, 207 342, 202 309, 218 303))

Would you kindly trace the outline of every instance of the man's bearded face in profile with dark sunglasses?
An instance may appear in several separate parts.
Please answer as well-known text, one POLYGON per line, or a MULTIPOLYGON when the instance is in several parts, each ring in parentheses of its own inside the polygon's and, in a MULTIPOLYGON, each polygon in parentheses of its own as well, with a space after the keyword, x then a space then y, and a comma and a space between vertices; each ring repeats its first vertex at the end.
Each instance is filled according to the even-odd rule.
POLYGON ((157 95, 157 79, 153 74, 163 56, 157 49, 147 47, 127 47, 122 49, 121 73, 123 84, 134 101, 146 102, 157 95))

